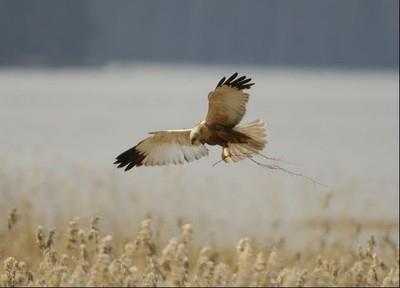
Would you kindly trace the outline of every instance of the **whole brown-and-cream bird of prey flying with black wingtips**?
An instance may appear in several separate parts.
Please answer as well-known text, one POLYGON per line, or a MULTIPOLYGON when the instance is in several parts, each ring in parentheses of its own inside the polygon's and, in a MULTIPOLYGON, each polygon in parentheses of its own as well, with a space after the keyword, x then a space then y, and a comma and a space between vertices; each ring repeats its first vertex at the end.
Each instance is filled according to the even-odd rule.
POLYGON ((260 120, 238 126, 246 113, 254 83, 234 73, 223 77, 208 94, 205 120, 191 129, 150 132, 152 136, 117 156, 114 164, 125 171, 135 166, 183 164, 208 155, 205 144, 222 147, 224 162, 237 162, 259 154, 267 144, 264 123, 260 120))

